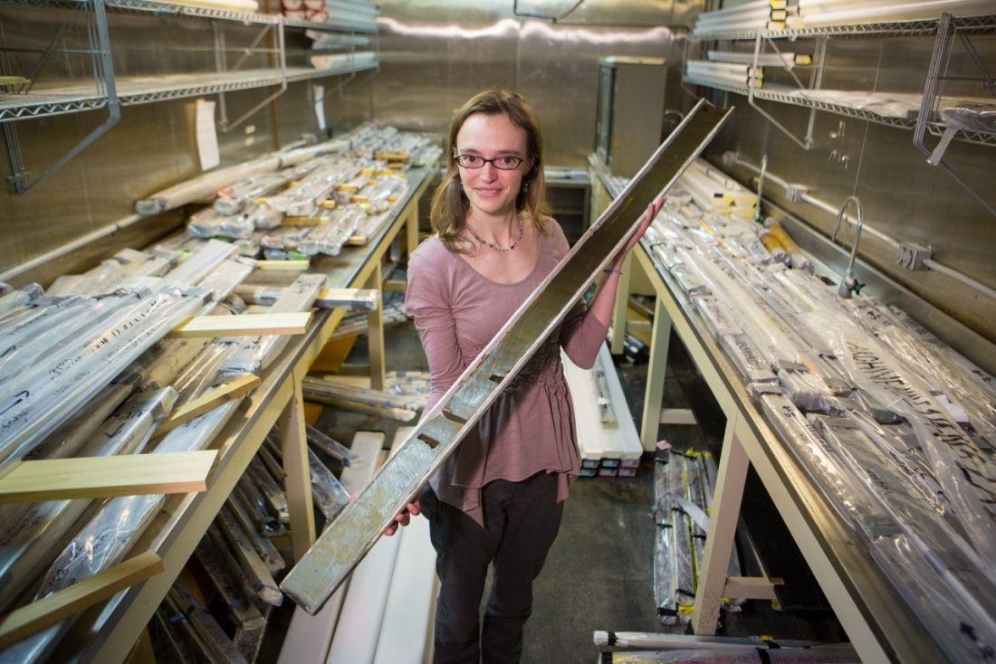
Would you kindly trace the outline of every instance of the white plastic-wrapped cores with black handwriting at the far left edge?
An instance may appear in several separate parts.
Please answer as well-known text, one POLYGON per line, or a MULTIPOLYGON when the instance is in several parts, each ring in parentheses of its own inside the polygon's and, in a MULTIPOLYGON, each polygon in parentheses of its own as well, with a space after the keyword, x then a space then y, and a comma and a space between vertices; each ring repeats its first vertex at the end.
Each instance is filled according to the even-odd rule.
POLYGON ((86 333, 62 338, 0 388, 0 474, 200 306, 199 290, 164 288, 109 300, 121 305, 86 333))

